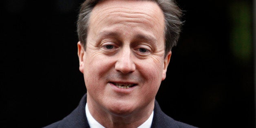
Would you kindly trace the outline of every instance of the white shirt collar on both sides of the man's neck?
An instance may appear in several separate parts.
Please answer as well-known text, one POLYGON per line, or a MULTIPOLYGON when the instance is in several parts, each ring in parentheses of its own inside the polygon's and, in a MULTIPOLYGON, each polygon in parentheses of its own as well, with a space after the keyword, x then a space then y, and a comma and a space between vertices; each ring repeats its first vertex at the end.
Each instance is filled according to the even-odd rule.
MULTIPOLYGON (((86 118, 88 120, 88 124, 89 124, 90 128, 105 128, 104 126, 99 124, 99 122, 96 121, 93 118, 93 116, 90 114, 87 103, 85 105, 85 113, 86 113, 86 118)), ((150 117, 143 124, 141 124, 138 128, 150 128, 152 121, 153 121, 153 115, 154 115, 154 111, 152 111, 150 117)))

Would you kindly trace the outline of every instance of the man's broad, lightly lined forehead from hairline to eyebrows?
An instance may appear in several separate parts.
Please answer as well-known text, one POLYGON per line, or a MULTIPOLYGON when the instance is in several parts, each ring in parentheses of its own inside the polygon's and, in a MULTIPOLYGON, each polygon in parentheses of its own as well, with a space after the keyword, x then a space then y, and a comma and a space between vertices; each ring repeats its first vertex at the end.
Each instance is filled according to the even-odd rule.
POLYGON ((152 1, 103 0, 90 15, 88 36, 105 31, 121 33, 122 37, 143 35, 164 42, 163 12, 152 1))

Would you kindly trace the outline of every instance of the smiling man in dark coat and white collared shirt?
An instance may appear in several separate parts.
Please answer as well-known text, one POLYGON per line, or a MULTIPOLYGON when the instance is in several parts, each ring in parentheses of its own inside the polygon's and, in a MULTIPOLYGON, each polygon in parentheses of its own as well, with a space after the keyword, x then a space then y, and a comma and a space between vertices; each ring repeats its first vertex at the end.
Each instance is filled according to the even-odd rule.
POLYGON ((155 96, 179 38, 172 0, 86 0, 77 21, 87 93, 47 128, 193 128, 165 115, 155 96))

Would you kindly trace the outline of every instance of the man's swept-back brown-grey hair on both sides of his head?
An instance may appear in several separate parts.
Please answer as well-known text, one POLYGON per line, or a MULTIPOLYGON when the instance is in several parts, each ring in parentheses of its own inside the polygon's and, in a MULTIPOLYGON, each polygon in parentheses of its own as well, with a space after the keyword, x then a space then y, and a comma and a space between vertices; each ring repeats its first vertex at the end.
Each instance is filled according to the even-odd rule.
MULTIPOLYGON (((88 25, 90 20, 90 14, 95 5, 101 0, 85 0, 80 6, 80 11, 77 19, 77 34, 81 44, 86 49, 86 38, 88 33, 88 25)), ((181 32, 182 11, 177 6, 174 0, 148 0, 158 4, 163 11, 165 21, 165 56, 168 51, 172 50, 172 47, 177 45, 179 35, 181 32)))

